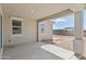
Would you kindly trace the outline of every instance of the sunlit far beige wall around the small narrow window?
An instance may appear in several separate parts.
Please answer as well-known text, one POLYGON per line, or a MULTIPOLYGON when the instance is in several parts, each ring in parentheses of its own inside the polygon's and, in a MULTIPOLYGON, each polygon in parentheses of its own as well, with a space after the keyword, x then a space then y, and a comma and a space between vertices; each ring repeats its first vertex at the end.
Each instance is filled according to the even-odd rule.
POLYGON ((39 41, 41 40, 51 40, 52 39, 52 23, 50 21, 44 21, 40 22, 40 24, 45 24, 45 30, 44 34, 41 34, 40 31, 40 27, 39 27, 39 41))

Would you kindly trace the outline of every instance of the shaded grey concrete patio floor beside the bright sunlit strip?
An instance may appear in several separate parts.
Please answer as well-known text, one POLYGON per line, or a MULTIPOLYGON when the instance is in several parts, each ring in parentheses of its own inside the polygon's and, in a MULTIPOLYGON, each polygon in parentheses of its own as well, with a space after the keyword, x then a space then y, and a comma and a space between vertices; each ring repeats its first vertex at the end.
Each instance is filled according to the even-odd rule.
POLYGON ((28 42, 4 48, 2 60, 61 60, 40 47, 45 42, 28 42))

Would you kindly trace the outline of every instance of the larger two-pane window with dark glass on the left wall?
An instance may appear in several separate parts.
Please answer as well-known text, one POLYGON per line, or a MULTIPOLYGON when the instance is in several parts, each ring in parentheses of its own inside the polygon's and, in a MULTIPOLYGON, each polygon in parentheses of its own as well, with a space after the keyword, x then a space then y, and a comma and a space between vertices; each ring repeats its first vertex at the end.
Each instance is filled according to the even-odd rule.
POLYGON ((22 35, 22 18, 12 17, 12 35, 22 35))

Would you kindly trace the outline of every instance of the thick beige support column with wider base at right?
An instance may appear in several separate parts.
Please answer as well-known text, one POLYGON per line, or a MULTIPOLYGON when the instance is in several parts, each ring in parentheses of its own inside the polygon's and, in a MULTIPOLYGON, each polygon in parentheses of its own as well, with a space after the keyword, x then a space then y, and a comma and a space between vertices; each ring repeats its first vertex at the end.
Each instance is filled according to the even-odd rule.
POLYGON ((84 41, 83 41, 83 11, 78 11, 74 14, 75 25, 75 39, 73 42, 73 51, 78 54, 84 53, 84 41))

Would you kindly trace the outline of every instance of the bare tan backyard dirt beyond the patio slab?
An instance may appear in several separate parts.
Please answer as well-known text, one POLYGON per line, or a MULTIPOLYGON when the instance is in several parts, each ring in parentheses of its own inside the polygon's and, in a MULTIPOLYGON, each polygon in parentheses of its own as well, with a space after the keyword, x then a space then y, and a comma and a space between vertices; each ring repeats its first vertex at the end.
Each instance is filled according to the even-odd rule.
MULTIPOLYGON (((71 51, 73 51, 73 40, 74 36, 53 35, 52 37, 54 44, 71 51)), ((84 42, 86 42, 86 37, 84 37, 84 42)))

